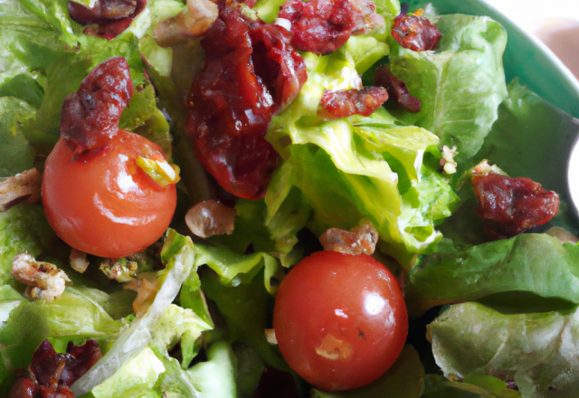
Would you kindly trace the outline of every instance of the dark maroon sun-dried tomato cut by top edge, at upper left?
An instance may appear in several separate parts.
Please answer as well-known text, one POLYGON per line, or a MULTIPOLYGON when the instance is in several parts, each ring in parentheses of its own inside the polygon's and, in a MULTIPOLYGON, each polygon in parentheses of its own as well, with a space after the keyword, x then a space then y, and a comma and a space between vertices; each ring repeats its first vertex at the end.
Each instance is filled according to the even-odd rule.
POLYGON ((83 33, 111 40, 123 33, 146 6, 147 0, 97 0, 92 7, 69 0, 69 14, 79 24, 97 25, 83 33))

